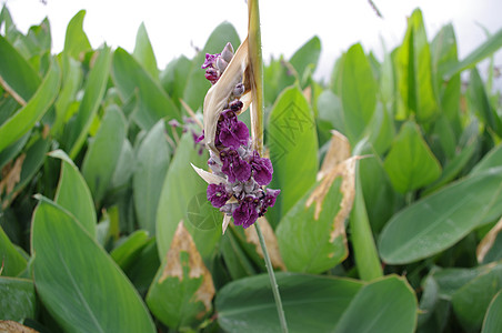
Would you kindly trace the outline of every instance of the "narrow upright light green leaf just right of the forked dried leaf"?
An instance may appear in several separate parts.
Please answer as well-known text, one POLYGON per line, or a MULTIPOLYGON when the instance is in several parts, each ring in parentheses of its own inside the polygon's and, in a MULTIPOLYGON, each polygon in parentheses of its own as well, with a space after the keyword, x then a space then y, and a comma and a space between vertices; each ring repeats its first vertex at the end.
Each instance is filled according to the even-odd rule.
POLYGON ((352 208, 349 225, 359 278, 363 281, 371 281, 381 278, 383 271, 368 219, 361 181, 361 169, 357 168, 354 206, 352 208))

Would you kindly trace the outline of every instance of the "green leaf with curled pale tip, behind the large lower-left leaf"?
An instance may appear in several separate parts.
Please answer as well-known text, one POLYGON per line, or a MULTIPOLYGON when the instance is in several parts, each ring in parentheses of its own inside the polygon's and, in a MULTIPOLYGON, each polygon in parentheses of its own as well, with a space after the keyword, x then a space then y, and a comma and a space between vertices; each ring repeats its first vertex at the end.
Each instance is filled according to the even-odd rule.
POLYGON ((70 212, 80 225, 96 235, 96 210, 91 191, 86 180, 80 174, 79 169, 72 160, 62 151, 57 150, 49 153, 50 157, 61 160, 61 175, 59 178, 58 190, 54 202, 70 212))

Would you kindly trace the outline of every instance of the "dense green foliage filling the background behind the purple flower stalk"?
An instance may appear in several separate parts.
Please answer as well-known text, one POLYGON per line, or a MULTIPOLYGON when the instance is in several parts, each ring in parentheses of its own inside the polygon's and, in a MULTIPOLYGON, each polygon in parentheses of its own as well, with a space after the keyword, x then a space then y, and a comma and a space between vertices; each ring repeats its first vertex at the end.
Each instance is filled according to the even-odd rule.
MULTIPOLYGON (((221 235, 190 167, 208 160, 187 121, 210 87, 200 67, 237 49, 234 28, 159 70, 144 26, 132 54, 92 49, 84 14, 52 54, 48 20, 22 34, 0 13, 0 321, 278 332, 254 230, 221 235)), ((493 63, 476 64, 501 47, 499 31, 459 59, 452 26, 428 39, 415 10, 401 46, 352 46, 328 83, 317 37, 265 61, 282 192, 260 223, 291 332, 500 332, 502 103, 493 63)))

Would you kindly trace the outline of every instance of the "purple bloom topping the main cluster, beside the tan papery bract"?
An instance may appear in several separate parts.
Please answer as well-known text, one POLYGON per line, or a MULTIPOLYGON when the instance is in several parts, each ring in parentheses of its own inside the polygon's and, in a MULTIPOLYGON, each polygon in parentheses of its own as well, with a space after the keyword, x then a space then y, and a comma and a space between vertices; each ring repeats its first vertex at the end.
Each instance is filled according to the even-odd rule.
POLYGON ((223 119, 218 123, 220 133, 218 139, 228 148, 239 149, 248 143, 249 129, 242 121, 237 120, 235 113, 227 109, 221 113, 223 119))

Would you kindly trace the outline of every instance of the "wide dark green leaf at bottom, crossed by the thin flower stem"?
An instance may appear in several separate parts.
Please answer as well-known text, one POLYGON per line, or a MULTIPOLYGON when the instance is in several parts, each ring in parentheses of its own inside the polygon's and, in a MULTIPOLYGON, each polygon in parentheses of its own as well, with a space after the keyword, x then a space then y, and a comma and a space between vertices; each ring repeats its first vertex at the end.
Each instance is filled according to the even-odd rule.
MULTIPOLYGON (((282 272, 275 276, 290 332, 331 332, 362 286, 340 278, 282 272)), ((228 332, 281 330, 267 274, 227 284, 218 292, 215 307, 218 323, 228 332)))

